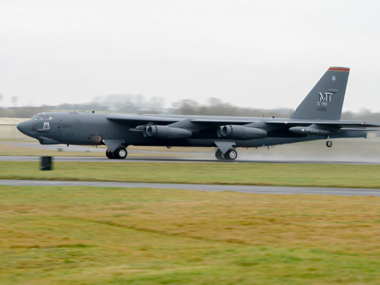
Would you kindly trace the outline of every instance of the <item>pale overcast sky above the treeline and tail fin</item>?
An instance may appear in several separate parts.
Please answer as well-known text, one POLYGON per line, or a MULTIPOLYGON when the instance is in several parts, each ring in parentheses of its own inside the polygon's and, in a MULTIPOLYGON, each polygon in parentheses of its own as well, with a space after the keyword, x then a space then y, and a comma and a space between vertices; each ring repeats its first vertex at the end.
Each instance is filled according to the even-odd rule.
POLYGON ((380 1, 0 0, 0 105, 160 96, 296 108, 329 66, 380 111, 380 1))

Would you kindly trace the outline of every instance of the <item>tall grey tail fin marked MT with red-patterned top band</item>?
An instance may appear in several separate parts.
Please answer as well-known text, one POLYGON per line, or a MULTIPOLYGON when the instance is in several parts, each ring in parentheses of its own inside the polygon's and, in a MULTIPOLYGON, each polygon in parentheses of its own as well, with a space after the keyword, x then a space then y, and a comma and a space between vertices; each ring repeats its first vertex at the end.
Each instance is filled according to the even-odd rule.
POLYGON ((339 120, 349 73, 347 67, 330 67, 290 118, 339 120))

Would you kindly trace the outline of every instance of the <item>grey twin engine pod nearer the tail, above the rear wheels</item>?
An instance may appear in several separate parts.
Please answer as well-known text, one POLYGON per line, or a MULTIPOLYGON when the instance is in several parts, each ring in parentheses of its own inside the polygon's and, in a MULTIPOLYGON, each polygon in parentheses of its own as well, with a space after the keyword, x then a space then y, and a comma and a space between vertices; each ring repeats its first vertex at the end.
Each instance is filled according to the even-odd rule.
POLYGON ((218 128, 218 137, 223 139, 249 140, 264 138, 267 135, 265 130, 240 125, 226 125, 218 128))

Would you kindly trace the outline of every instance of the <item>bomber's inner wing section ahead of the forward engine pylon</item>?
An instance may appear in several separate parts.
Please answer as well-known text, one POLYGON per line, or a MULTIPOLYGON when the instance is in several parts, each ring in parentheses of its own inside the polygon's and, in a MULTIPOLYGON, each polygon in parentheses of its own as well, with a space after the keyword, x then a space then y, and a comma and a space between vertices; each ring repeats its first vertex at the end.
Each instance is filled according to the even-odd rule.
POLYGON ((106 118, 110 121, 126 124, 126 125, 145 125, 147 123, 157 123, 159 125, 169 125, 183 119, 181 118, 167 118, 156 117, 149 115, 133 115, 133 114, 109 114, 106 118))

